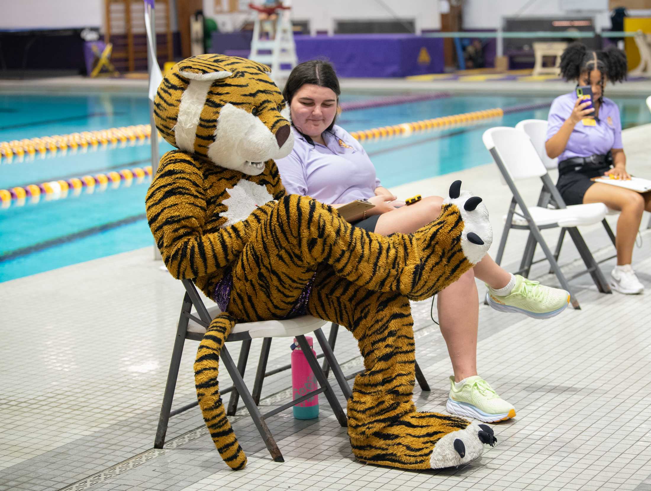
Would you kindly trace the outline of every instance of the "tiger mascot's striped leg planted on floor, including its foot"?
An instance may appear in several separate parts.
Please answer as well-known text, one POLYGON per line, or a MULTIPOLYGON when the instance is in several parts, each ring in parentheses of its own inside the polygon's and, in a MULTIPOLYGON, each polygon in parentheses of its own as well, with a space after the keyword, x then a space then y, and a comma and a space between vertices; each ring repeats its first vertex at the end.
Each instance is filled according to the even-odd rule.
POLYGON ((370 464, 402 469, 459 466, 496 442, 492 428, 434 412, 417 412, 413 320, 404 296, 370 292, 318 272, 309 313, 348 327, 359 344, 365 371, 348 400, 353 455, 370 464))

